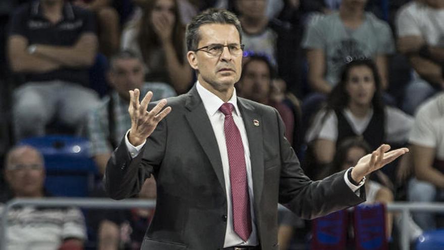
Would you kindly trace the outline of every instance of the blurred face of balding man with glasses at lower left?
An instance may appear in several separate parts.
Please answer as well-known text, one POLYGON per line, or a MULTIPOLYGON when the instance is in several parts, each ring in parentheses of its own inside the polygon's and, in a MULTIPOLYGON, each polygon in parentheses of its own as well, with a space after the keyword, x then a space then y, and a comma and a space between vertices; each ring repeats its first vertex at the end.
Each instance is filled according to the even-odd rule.
POLYGON ((16 196, 37 197, 43 191, 45 171, 40 155, 20 148, 5 170, 6 180, 16 196))

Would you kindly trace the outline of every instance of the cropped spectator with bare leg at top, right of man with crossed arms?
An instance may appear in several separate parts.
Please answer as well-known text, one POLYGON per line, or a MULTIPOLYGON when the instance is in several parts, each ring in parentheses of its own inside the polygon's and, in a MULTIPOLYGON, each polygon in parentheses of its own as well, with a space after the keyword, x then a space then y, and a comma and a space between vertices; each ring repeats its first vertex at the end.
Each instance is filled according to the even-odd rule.
POLYGON ((120 45, 119 14, 112 7, 112 0, 73 0, 73 4, 95 13, 98 22, 99 49, 110 57, 120 45))

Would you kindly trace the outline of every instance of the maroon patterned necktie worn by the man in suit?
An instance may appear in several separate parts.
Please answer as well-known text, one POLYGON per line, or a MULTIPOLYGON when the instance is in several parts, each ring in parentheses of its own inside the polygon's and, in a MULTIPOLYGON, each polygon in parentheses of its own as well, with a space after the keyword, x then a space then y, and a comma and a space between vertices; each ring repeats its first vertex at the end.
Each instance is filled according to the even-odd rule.
POLYGON ((234 123, 233 104, 225 103, 219 110, 225 115, 224 132, 230 164, 231 198, 234 231, 247 241, 251 234, 250 196, 248 195, 247 168, 241 133, 234 123))

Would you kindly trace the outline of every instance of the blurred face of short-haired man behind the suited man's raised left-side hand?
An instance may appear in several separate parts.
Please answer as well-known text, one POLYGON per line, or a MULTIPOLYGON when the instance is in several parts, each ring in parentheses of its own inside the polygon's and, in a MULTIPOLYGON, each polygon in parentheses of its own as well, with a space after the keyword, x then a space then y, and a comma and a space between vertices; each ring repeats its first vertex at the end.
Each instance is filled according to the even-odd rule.
POLYGON ((117 59, 108 74, 109 83, 119 95, 129 100, 129 90, 141 88, 144 79, 143 65, 139 59, 117 59))

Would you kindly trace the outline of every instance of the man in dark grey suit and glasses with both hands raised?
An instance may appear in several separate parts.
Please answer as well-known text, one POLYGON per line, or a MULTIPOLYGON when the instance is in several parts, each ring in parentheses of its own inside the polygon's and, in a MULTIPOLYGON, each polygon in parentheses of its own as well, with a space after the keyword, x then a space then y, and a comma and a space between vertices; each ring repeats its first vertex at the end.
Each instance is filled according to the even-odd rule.
POLYGON ((130 91, 131 129, 104 181, 123 199, 154 175, 156 212, 142 249, 278 249, 278 202, 308 219, 354 206, 365 199, 364 175, 408 151, 381 145, 354 168, 311 181, 278 112, 236 96, 240 34, 232 13, 203 12, 186 34, 195 86, 167 108, 166 99, 148 108, 151 92, 139 103, 139 90, 130 91))

